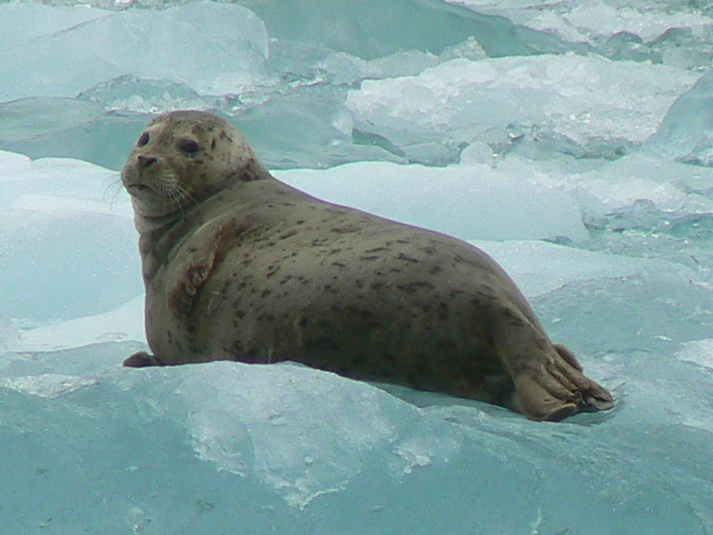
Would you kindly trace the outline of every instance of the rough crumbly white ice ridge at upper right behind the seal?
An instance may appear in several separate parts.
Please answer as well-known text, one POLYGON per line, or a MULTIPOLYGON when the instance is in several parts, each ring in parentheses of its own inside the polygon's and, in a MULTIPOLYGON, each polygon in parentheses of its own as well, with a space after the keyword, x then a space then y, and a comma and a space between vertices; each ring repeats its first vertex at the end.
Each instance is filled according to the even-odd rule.
POLYGON ((576 143, 593 137, 642 142, 701 76, 595 55, 459 58, 416 76, 364 80, 349 91, 347 107, 357 126, 399 146, 424 133, 468 143, 509 123, 551 125, 576 143))

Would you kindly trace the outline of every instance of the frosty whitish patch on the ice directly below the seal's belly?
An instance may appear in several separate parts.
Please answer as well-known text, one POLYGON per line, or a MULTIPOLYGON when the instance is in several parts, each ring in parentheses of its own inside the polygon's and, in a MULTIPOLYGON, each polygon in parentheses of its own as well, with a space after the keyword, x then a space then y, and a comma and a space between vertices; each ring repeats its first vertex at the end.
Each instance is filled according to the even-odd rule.
POLYGON ((384 411, 390 395, 364 383, 290 364, 212 362, 191 371, 175 393, 190 407, 198 457, 257 474, 292 506, 341 489, 366 452, 395 437, 384 411))

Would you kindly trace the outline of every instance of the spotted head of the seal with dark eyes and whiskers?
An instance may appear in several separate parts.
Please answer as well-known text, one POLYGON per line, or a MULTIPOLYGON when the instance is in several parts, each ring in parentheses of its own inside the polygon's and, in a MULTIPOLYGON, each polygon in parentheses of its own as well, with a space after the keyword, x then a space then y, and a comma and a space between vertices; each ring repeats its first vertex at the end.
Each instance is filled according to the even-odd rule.
POLYGON ((121 170, 139 232, 178 220, 237 181, 268 176, 237 128, 204 111, 153 119, 121 170))

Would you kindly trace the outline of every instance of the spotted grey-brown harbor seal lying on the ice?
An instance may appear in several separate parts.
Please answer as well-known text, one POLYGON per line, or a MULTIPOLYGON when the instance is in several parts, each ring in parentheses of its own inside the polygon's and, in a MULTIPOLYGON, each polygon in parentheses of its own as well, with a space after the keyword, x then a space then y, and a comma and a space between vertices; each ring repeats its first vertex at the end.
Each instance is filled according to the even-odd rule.
POLYGON ((280 182, 218 116, 150 121, 121 180, 153 351, 125 366, 292 360, 535 420, 614 404, 482 250, 280 182))

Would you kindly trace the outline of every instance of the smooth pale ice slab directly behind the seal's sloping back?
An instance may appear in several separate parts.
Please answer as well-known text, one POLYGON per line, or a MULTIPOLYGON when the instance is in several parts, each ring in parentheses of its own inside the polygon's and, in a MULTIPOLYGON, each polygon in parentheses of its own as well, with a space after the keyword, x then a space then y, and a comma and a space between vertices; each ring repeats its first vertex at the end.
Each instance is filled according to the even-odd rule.
POLYGON ((568 195, 533 185, 527 175, 508 175, 484 164, 428 168, 351 163, 276 175, 332 202, 466 239, 585 236, 580 213, 568 195))

